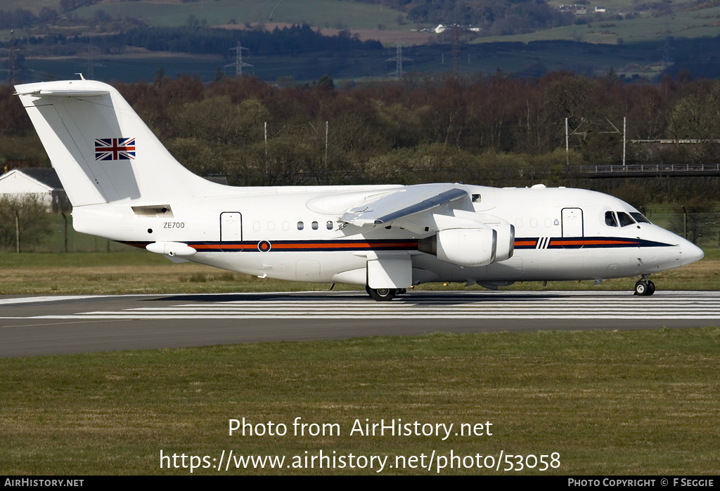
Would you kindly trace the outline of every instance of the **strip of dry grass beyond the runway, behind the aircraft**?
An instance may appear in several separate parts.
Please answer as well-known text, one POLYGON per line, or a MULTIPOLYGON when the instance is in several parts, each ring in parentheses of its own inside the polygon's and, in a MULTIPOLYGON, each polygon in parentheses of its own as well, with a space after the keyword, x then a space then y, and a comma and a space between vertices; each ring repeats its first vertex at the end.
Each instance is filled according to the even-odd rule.
MULTIPOLYGON (((660 290, 716 290, 720 286, 720 249, 692 265, 652 275, 660 290)), ((516 283, 510 290, 632 290, 634 278, 592 281, 516 283)), ((0 252, 0 295, 232 293, 328 290, 328 283, 260 279, 186 262, 175 265, 149 252, 74 252, 51 254, 0 252)), ((361 290, 341 285, 337 288, 361 290)), ((336 288, 336 289, 337 289, 336 288)), ((431 283, 419 290, 464 289, 462 283, 431 283)), ((473 286, 469 290, 482 290, 473 286)))

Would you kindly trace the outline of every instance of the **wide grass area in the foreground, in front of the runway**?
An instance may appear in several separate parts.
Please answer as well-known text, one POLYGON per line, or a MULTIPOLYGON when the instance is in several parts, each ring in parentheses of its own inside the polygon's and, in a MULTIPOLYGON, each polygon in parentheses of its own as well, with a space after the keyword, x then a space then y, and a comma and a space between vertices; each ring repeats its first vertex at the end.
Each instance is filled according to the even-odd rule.
MULTIPOLYGON (((433 451, 497 458, 503 451, 557 452, 559 467, 440 473, 714 474, 719 348, 715 327, 431 334, 0 359, 0 468, 5 474, 189 474, 189 468, 161 469, 161 450, 210 459, 233 450, 286 461, 282 469, 231 467, 228 474, 378 469, 318 469, 319 461, 315 469, 292 467, 294 456, 304 463, 322 450, 387 456, 393 467, 386 465, 384 474, 436 474, 438 460, 428 471, 397 468, 395 458, 424 454, 427 462, 433 451), (230 418, 266 428, 269 421, 284 423, 287 435, 229 436, 230 418), (305 436, 295 436, 295 418, 336 424, 339 434, 311 436, 307 427, 305 436), (383 419, 454 428, 444 441, 351 435, 356 420, 383 419), (487 422, 492 435, 454 434, 462 423, 487 422)), ((477 462, 462 462, 470 461, 477 462)))

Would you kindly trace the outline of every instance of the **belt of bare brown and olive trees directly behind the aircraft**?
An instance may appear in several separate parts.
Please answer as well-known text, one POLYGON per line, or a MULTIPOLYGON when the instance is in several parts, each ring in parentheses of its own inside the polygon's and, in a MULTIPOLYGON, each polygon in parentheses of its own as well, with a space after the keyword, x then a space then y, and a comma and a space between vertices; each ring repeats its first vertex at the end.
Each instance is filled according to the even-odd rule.
MULTIPOLYGON (((626 140, 677 142, 627 143, 628 164, 714 163, 720 150, 720 82, 687 74, 650 84, 410 73, 337 88, 329 77, 280 87, 158 71, 154 81, 114 85, 181 163, 235 185, 577 185, 574 166, 622 162, 623 129, 626 140)), ((48 165, 10 87, 0 88, 0 112, 0 165, 48 165)), ((717 180, 688 182, 617 185, 635 202, 718 196, 717 180)))

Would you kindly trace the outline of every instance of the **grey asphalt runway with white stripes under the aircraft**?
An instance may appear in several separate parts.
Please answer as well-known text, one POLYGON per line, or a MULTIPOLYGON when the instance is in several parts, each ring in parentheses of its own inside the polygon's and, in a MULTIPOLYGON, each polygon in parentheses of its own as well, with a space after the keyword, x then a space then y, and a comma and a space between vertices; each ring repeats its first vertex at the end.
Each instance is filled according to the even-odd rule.
POLYGON ((0 357, 437 331, 720 326, 720 292, 364 292, 0 298, 0 357))

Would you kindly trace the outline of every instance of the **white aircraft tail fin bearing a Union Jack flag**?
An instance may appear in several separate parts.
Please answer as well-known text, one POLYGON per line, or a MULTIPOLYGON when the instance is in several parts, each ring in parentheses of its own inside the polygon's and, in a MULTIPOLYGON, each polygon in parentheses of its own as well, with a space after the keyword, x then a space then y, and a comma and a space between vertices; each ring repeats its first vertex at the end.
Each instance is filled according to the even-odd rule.
POLYGON ((73 206, 170 203, 212 185, 180 165, 112 86, 79 80, 15 89, 73 206))

